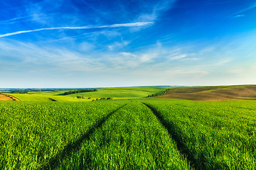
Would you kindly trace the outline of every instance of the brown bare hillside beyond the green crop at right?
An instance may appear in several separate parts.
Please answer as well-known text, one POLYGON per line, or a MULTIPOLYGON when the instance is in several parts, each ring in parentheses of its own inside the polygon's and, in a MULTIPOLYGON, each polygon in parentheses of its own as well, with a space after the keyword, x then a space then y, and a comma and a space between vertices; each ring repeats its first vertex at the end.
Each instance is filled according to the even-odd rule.
POLYGON ((154 98, 191 101, 256 100, 256 85, 176 87, 164 96, 154 98))

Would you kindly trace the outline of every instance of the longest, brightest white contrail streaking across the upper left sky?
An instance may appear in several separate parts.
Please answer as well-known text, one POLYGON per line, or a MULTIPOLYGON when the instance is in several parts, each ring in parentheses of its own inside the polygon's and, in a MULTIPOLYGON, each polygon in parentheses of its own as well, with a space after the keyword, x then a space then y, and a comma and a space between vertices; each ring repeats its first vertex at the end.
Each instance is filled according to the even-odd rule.
POLYGON ((31 33, 41 30, 62 30, 62 29, 69 29, 69 30, 75 30, 75 29, 93 29, 93 28, 117 28, 117 27, 134 27, 134 26, 145 26, 149 25, 153 22, 138 22, 138 23, 118 23, 118 24, 112 24, 112 25, 106 25, 106 26, 80 26, 80 27, 52 27, 52 28, 40 28, 36 30, 20 30, 14 33, 6 33, 0 35, 0 38, 8 37, 11 35, 17 35, 21 33, 31 33))

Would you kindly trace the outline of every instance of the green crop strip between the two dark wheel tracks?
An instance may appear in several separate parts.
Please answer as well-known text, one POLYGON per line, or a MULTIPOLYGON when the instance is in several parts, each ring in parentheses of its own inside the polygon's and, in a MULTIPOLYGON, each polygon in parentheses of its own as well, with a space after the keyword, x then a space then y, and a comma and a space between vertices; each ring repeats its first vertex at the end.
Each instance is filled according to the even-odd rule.
POLYGON ((131 102, 57 169, 191 169, 149 108, 131 102))

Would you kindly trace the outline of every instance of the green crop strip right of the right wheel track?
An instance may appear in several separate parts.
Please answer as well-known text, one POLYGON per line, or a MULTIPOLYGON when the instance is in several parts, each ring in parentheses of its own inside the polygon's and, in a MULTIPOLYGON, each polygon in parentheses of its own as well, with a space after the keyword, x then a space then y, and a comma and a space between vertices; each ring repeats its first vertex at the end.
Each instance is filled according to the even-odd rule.
POLYGON ((145 103, 172 128, 195 168, 256 168, 255 101, 145 103))

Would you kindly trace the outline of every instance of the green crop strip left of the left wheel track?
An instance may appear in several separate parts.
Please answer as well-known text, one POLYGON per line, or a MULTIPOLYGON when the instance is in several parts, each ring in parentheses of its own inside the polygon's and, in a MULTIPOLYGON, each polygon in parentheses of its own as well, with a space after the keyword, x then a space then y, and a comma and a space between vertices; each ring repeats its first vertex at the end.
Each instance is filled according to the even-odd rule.
POLYGON ((124 102, 0 102, 0 169, 38 169, 124 102))

